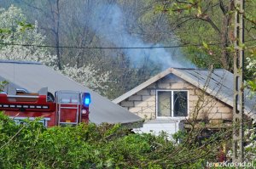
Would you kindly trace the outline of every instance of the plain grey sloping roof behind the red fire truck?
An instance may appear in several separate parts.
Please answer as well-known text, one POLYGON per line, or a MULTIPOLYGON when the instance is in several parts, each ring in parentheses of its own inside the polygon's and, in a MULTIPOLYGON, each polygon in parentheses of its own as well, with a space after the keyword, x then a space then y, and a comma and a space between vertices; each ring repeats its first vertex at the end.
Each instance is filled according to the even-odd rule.
POLYGON ((89 92, 91 96, 90 121, 96 124, 102 122, 137 123, 138 126, 143 124, 143 119, 137 115, 39 63, 0 60, 0 81, 3 80, 10 82, 9 85, 26 88, 32 93, 38 92, 42 87, 48 87, 50 93, 58 90, 89 92))

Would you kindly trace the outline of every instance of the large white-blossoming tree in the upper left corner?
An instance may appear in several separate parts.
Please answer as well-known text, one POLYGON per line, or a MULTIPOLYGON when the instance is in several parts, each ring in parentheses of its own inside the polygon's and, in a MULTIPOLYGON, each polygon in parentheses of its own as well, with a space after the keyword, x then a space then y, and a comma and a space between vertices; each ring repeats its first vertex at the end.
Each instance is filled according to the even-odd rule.
POLYGON ((38 61, 55 67, 55 56, 50 55, 46 48, 37 47, 44 45, 45 40, 38 32, 38 22, 34 25, 26 23, 20 8, 1 8, 0 27, 5 30, 1 38, 0 59, 38 61))

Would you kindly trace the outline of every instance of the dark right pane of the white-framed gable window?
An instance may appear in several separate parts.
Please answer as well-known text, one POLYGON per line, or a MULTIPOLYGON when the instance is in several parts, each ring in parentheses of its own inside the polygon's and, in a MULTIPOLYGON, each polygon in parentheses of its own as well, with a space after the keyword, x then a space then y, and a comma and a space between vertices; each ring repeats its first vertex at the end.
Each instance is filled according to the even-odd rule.
POLYGON ((188 115, 188 98, 187 92, 174 91, 173 92, 173 114, 174 116, 188 115))

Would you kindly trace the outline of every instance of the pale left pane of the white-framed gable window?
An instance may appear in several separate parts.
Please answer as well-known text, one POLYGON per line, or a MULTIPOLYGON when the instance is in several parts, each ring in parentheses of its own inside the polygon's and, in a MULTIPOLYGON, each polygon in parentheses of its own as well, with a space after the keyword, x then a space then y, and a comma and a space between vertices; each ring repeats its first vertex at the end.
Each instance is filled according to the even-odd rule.
POLYGON ((158 116, 172 115, 172 92, 158 92, 158 116))

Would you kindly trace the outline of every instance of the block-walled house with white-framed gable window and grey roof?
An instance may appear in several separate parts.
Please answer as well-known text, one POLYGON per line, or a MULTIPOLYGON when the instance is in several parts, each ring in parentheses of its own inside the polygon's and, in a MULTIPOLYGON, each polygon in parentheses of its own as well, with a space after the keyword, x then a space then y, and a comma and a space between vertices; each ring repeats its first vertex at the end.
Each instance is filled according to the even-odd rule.
MULTIPOLYGON (((188 121, 207 127, 232 125, 233 74, 228 70, 169 68, 114 99, 146 120, 142 132, 177 132, 188 121)), ((249 93, 247 90, 245 93, 249 93)), ((245 100, 245 114, 255 119, 255 97, 245 100)))

